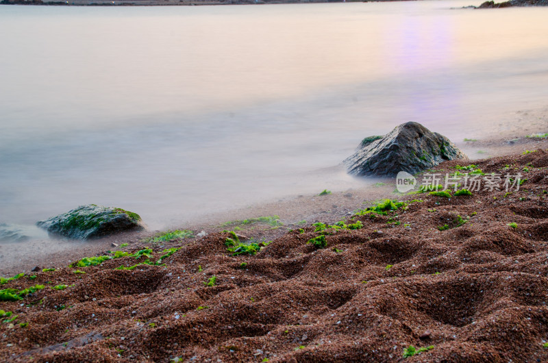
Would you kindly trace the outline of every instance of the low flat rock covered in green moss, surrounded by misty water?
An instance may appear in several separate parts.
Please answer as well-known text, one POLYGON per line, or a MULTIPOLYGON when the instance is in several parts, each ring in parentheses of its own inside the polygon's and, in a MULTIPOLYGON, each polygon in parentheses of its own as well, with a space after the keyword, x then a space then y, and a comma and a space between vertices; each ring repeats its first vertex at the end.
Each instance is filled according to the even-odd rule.
POLYGON ((141 217, 136 213, 95 204, 82 205, 36 225, 47 229, 51 234, 81 240, 145 228, 141 217))

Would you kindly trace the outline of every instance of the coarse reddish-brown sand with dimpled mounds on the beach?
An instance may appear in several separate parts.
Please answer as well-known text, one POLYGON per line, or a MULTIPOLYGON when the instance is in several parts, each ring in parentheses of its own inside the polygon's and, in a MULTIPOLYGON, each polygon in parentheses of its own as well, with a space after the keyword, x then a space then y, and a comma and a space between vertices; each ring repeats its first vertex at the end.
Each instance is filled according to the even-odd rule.
POLYGON ((548 152, 475 164, 527 181, 510 195, 406 196, 423 201, 397 218, 356 216, 364 228, 333 230, 325 249, 306 243, 319 234, 310 224, 275 229, 255 256, 232 256, 217 232, 153 246, 155 261, 182 245, 166 266, 114 270, 138 261, 126 257, 10 281, 2 288, 46 288, 0 303, 18 315, 0 323, 0 361, 546 362, 548 152), (458 215, 469 221, 455 227, 458 215), (434 349, 403 358, 409 345, 434 349))

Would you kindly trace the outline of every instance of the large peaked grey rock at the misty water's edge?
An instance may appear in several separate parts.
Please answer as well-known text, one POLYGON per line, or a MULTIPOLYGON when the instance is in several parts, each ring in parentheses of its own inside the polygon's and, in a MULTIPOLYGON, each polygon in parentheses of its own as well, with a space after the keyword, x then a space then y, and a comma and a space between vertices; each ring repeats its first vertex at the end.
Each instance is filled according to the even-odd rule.
POLYGON ((420 123, 403 123, 386 136, 369 136, 344 163, 353 175, 414 174, 445 160, 466 158, 448 138, 420 123))

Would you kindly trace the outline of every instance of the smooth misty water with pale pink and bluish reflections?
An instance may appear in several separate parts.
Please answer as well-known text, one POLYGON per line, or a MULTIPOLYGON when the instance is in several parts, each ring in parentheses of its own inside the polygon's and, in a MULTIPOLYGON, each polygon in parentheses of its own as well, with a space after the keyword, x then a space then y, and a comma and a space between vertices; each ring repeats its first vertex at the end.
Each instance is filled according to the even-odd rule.
POLYGON ((545 105, 548 9, 479 2, 0 6, 0 223, 181 225, 362 186, 341 160, 403 121, 493 134, 545 105))

